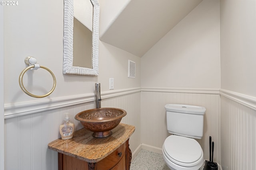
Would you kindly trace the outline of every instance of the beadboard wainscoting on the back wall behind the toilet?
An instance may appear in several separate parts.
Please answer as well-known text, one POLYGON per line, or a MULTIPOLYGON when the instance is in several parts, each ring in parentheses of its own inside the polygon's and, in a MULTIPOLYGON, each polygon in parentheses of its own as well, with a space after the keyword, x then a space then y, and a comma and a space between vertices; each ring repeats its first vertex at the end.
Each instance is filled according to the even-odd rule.
MULTIPOLYGON (((164 91, 164 90, 162 90, 164 91)), ((214 161, 219 161, 219 94, 218 92, 142 91, 142 148, 162 154, 162 145, 170 134, 166 127, 166 104, 189 104, 206 107, 204 134, 197 139, 209 160, 209 136, 214 141, 214 161)))

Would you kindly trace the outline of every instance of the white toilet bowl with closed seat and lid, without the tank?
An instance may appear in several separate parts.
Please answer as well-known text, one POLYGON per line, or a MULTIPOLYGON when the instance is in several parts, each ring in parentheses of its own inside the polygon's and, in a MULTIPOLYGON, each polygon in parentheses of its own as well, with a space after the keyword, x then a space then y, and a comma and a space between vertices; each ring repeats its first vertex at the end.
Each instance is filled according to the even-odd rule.
POLYGON ((198 170, 204 164, 201 146, 189 137, 170 135, 164 141, 162 152, 171 170, 198 170))

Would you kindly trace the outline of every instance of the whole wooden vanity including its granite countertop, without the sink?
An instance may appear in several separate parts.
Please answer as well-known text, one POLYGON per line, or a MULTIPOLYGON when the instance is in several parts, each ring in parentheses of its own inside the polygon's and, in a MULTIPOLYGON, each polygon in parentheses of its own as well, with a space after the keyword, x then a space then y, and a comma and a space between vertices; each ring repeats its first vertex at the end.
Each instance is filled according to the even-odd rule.
POLYGON ((106 138, 95 138, 85 128, 72 139, 56 139, 48 148, 58 152, 59 170, 129 170, 132 152, 129 139, 135 127, 119 123, 106 138))

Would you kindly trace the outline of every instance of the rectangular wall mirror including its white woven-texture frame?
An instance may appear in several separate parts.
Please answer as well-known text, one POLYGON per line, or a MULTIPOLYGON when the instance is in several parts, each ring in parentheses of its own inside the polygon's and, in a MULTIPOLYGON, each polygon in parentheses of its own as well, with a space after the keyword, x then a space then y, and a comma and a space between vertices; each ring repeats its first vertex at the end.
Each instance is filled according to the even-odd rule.
POLYGON ((97 0, 64 0, 63 73, 98 76, 97 0))

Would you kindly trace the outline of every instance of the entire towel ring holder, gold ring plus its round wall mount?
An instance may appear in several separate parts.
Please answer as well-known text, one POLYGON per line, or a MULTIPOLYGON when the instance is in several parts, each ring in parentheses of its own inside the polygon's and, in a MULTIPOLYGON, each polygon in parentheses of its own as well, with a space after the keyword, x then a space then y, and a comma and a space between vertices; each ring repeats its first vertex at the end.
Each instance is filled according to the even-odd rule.
POLYGON ((22 70, 22 72, 20 73, 20 76, 19 76, 19 83, 20 83, 21 90, 23 90, 23 92, 26 93, 28 96, 31 96, 31 97, 34 97, 34 98, 44 98, 44 97, 50 95, 56 87, 56 78, 55 78, 53 72, 45 66, 40 66, 39 64, 36 64, 37 61, 34 57, 26 57, 24 62, 26 63, 26 65, 28 65, 28 67, 26 67, 24 70, 22 70), (28 92, 28 90, 26 90, 26 88, 23 85, 23 76, 24 76, 25 72, 28 71, 29 69, 37 70, 38 68, 43 68, 43 69, 47 70, 48 72, 50 72, 50 74, 53 78, 52 89, 47 94, 44 94, 44 95, 41 95, 41 96, 34 95, 34 94, 28 92))

